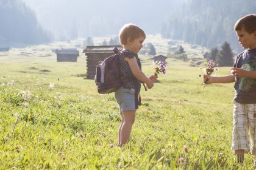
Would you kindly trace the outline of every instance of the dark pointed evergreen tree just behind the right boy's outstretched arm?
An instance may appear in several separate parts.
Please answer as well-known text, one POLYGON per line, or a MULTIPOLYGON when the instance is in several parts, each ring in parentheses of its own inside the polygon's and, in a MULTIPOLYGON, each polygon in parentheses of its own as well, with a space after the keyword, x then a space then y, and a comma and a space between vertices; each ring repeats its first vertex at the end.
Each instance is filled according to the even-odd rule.
POLYGON ((225 41, 221 46, 221 50, 219 50, 216 63, 218 66, 232 66, 234 62, 233 56, 230 44, 225 41))

